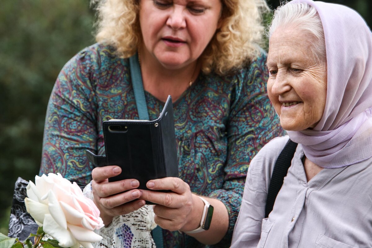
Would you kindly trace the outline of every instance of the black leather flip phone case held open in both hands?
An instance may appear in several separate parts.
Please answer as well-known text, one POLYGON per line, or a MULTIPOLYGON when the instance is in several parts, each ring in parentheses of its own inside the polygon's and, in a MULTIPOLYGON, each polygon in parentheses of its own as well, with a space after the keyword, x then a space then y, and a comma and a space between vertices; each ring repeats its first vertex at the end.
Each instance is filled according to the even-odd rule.
POLYGON ((156 120, 103 121, 103 135, 106 156, 97 156, 87 150, 87 157, 95 166, 122 168, 120 175, 109 178, 110 182, 134 178, 140 181, 139 189, 147 189, 148 180, 178 177, 170 96, 156 120))

